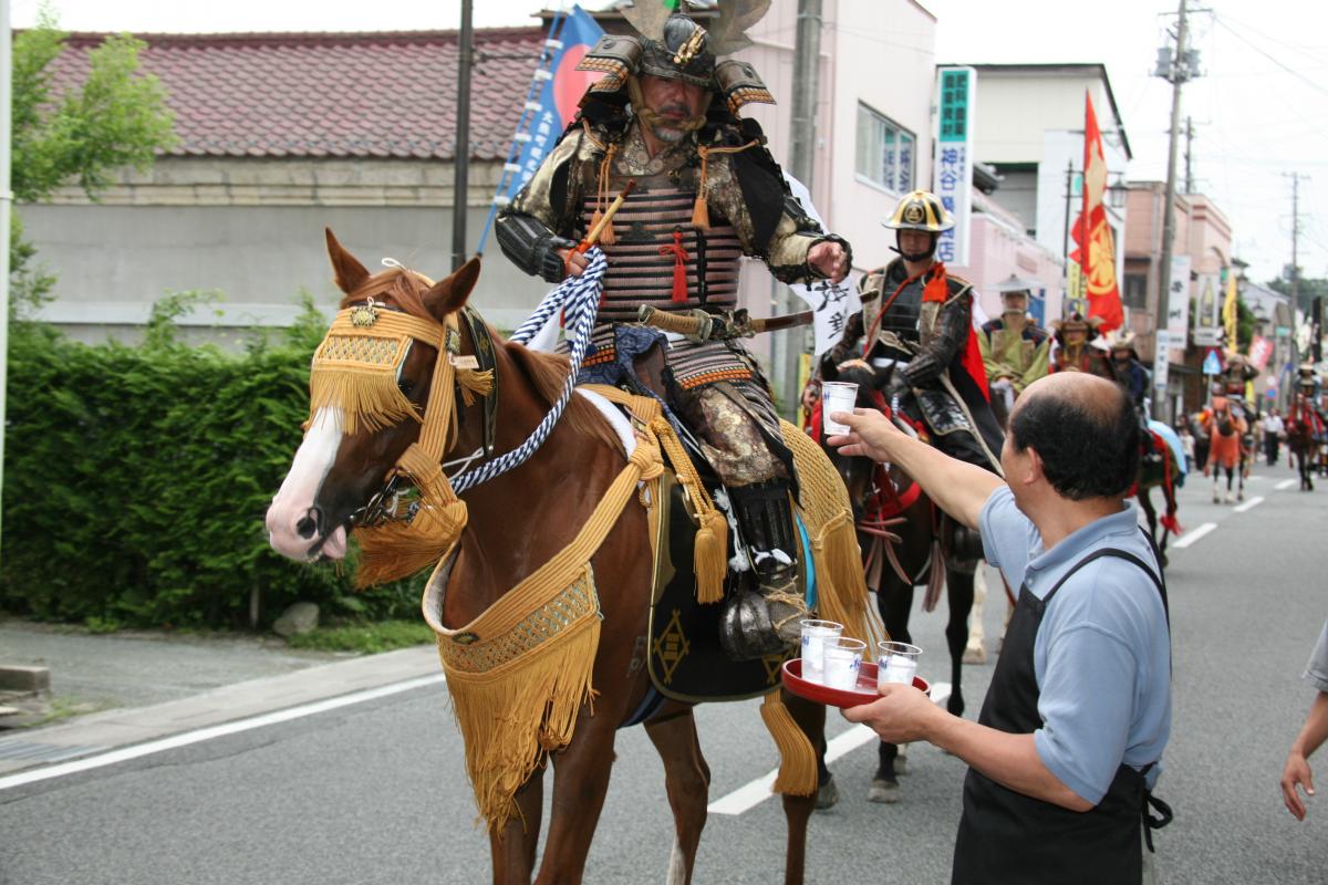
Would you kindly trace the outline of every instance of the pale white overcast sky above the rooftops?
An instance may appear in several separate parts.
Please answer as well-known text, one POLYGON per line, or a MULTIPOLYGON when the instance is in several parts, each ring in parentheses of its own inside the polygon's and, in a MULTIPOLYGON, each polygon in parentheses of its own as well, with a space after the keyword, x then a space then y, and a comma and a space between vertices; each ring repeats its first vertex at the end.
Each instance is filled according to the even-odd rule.
MULTIPOLYGON (((874 0, 839 0, 874 3, 874 0)), ((1105 62, 1134 150, 1131 179, 1165 179, 1170 84, 1150 77, 1177 0, 922 0, 942 62, 1105 62), (1166 15, 1163 15, 1166 13, 1166 15)), ((542 0, 478 0, 477 27, 531 24, 542 0)), ((602 0, 587 0, 599 8, 602 0)), ((1194 176, 1232 226, 1235 252, 1266 280, 1291 260, 1291 179, 1300 172, 1300 265, 1328 276, 1328 5, 1191 0, 1203 76, 1185 89, 1194 176)), ((53 0, 73 31, 414 31, 456 28, 458 0, 53 0)), ((11 0, 15 27, 37 0, 11 0)), ((891 45, 882 28, 883 48, 891 45)), ((981 113, 981 109, 977 109, 981 113)), ((1102 115, 1101 109, 1098 115, 1102 115)), ((1183 170, 1183 161, 1182 167, 1183 170)))

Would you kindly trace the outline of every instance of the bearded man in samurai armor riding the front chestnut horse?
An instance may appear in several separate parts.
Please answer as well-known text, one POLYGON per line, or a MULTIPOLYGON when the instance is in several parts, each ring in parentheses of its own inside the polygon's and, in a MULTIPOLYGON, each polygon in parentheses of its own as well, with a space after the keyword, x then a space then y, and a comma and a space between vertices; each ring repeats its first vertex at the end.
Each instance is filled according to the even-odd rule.
MULTIPOLYGON (((851 255, 789 194, 760 126, 737 117, 745 103, 774 101, 750 65, 716 61, 750 44, 741 33, 750 11, 724 5, 709 32, 659 3, 623 15, 641 37, 604 36, 580 62, 606 76, 499 214, 497 236, 527 273, 579 275, 586 259, 575 241, 636 182, 600 239, 608 268, 582 374, 635 386, 633 358, 663 338, 632 325, 640 305, 721 313, 737 306, 742 255, 790 283, 843 279, 851 255)), ((806 609, 795 596, 801 544, 789 510, 797 478, 769 385, 736 340, 672 340, 664 361, 655 393, 724 483, 760 588, 725 601, 724 647, 737 659, 781 651, 798 641, 806 609)))

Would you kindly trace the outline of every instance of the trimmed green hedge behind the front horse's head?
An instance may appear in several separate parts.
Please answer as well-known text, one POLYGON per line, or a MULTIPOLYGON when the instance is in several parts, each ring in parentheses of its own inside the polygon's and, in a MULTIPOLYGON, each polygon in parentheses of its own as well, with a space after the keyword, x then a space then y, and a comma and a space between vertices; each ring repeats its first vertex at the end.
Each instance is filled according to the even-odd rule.
MULTIPOLYGON (((417 617, 418 592, 356 593, 344 569, 274 553, 263 515, 300 442, 312 310, 242 356, 11 329, 0 608, 93 626, 244 628, 296 600, 332 616, 417 617)), ((417 579, 416 582, 418 582, 417 579)))

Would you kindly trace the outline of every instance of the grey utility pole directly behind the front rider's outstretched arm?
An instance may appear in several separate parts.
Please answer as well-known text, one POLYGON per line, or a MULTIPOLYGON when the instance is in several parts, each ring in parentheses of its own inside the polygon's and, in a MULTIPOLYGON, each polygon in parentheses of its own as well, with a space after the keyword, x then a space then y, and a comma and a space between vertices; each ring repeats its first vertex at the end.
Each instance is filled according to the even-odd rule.
MULTIPOLYGON (((811 191, 815 169, 817 96, 821 72, 821 0, 798 0, 798 31, 793 45, 793 118, 789 126, 789 174, 811 191)), ((774 283, 777 313, 793 313, 794 295, 781 283, 774 283)), ((786 415, 797 414, 798 362, 806 349, 802 329, 784 332, 772 342, 774 377, 778 378, 781 399, 786 415)))

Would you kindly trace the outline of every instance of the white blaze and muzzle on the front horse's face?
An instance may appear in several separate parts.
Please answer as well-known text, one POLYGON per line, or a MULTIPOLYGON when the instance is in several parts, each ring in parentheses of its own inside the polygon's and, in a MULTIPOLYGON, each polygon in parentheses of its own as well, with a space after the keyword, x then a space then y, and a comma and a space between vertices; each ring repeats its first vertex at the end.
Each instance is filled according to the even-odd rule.
MULTIPOLYGON (((341 444, 341 411, 339 409, 319 409, 313 415, 304 442, 295 452, 291 472, 282 482, 267 510, 267 531, 272 549, 291 559, 308 559, 307 552, 313 544, 312 537, 303 537, 296 528, 304 515, 313 507, 313 500, 332 470, 337 448, 341 444)), ((323 552, 333 559, 345 556, 345 529, 337 528, 323 545, 323 552)))

